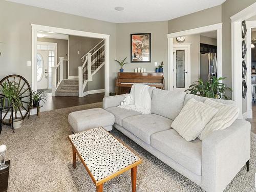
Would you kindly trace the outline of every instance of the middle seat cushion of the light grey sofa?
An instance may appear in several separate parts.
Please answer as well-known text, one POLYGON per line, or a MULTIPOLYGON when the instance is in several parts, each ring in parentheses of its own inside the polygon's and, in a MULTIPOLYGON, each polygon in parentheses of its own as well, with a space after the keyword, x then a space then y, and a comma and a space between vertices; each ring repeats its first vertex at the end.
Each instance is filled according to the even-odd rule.
POLYGON ((150 144, 151 135, 170 129, 172 122, 172 120, 156 114, 136 115, 123 119, 123 127, 150 144))

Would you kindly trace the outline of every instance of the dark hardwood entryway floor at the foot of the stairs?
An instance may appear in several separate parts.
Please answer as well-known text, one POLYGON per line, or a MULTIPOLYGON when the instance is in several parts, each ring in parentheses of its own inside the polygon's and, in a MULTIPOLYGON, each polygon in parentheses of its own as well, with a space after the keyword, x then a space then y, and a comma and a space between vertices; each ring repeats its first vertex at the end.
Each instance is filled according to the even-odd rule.
POLYGON ((101 102, 104 97, 104 93, 90 94, 81 98, 61 96, 52 97, 52 93, 46 93, 46 96, 46 103, 40 103, 43 105, 40 111, 50 111, 55 109, 69 108, 70 106, 101 102))

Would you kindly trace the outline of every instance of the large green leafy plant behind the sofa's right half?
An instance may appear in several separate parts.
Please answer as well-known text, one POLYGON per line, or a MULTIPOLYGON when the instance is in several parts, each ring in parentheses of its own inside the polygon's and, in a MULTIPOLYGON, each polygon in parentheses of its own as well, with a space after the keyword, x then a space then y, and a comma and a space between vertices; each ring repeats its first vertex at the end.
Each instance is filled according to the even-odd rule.
POLYGON ((223 79, 225 79, 225 77, 220 77, 218 79, 216 77, 213 77, 212 79, 204 83, 203 80, 199 78, 199 80, 196 81, 198 84, 191 84, 191 86, 189 86, 189 88, 185 92, 190 92, 190 94, 208 98, 230 99, 228 96, 224 95, 224 93, 225 90, 232 90, 226 87, 224 83, 220 82, 223 79))

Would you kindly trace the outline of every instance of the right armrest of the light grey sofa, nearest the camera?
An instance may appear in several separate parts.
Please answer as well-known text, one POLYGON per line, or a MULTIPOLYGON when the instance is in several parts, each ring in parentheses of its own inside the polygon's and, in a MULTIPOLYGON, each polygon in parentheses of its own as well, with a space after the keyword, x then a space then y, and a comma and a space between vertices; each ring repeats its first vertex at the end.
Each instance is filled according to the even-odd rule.
POLYGON ((236 120, 202 141, 202 181, 206 191, 223 191, 250 159, 251 124, 236 120))

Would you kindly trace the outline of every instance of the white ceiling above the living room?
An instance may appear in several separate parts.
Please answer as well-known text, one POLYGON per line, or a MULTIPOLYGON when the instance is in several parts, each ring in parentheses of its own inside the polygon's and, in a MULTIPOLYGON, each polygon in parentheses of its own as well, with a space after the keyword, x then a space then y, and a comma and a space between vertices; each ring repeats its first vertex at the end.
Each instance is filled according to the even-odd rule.
MULTIPOLYGON (((225 0, 8 0, 113 23, 169 20, 222 4, 225 0), (116 11, 115 7, 123 7, 116 11)), ((200 22, 200 21, 199 21, 200 22)))

